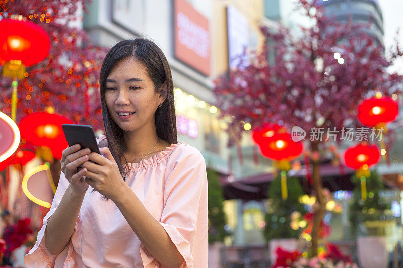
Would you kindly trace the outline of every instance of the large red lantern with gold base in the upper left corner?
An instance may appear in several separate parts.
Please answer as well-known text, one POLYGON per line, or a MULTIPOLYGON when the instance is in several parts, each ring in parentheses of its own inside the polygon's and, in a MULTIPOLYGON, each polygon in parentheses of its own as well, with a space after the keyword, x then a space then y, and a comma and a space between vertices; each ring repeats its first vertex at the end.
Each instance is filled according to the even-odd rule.
POLYGON ((25 66, 35 65, 49 54, 48 34, 23 16, 0 20, 0 33, 0 64, 4 65, 4 75, 23 78, 25 66))

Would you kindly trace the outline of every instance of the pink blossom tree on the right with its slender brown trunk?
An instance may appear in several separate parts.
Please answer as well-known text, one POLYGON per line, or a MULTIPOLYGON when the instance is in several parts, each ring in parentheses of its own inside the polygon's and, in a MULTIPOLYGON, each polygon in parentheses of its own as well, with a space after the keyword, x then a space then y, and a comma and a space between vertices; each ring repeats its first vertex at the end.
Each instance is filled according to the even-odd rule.
MULTIPOLYGON (((382 44, 365 31, 368 25, 326 17, 320 2, 299 1, 312 26, 300 27, 298 37, 284 26, 275 30, 262 27, 267 41, 264 48, 251 52, 248 64, 239 64, 239 68, 215 81, 214 93, 222 116, 236 118, 229 125, 229 146, 241 138, 242 121, 253 127, 265 123, 299 126, 308 137, 326 128, 334 131, 335 140, 340 142, 343 127, 359 125, 356 110, 363 98, 375 92, 390 95, 400 90, 403 77, 386 70, 403 55, 399 46, 386 58, 382 44)), ((306 140, 312 151, 312 186, 318 204, 311 256, 317 255, 325 212, 319 173, 319 149, 325 134, 306 140)))

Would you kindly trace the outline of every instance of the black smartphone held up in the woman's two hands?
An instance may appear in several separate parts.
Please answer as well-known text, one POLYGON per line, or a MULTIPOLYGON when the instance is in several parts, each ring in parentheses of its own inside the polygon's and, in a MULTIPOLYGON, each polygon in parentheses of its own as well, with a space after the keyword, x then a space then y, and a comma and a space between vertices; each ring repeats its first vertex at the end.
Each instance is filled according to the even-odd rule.
POLYGON ((91 126, 63 124, 62 128, 69 146, 80 144, 80 150, 84 148, 89 148, 91 152, 101 154, 99 152, 97 140, 95 139, 94 130, 91 126))

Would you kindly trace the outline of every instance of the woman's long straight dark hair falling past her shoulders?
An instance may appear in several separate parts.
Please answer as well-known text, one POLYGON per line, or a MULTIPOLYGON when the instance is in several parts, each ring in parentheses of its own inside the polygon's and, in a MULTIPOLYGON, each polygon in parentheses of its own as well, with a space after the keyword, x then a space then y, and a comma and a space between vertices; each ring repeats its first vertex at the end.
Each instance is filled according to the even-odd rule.
POLYGON ((173 97, 173 81, 171 69, 164 53, 151 40, 145 38, 127 39, 114 45, 106 55, 101 68, 99 85, 101 89, 102 117, 108 140, 108 147, 115 159, 120 173, 123 173, 120 157, 124 157, 126 148, 123 130, 112 120, 106 107, 105 91, 106 78, 112 68, 123 59, 133 57, 140 61, 146 68, 148 76, 154 83, 154 89, 159 92, 166 82, 166 100, 158 107, 155 117, 157 136, 169 143, 178 143, 176 132, 175 102, 173 97))

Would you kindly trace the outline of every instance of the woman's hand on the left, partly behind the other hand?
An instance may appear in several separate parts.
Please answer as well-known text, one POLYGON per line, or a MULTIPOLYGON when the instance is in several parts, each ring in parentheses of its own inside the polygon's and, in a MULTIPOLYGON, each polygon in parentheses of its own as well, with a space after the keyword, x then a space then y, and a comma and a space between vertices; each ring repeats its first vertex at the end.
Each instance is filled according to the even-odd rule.
POLYGON ((83 176, 86 169, 77 170, 77 168, 88 161, 88 155, 91 150, 88 148, 80 150, 80 145, 75 144, 63 150, 61 156, 61 171, 67 178, 73 189, 77 193, 85 193, 88 189, 88 184, 83 176))

